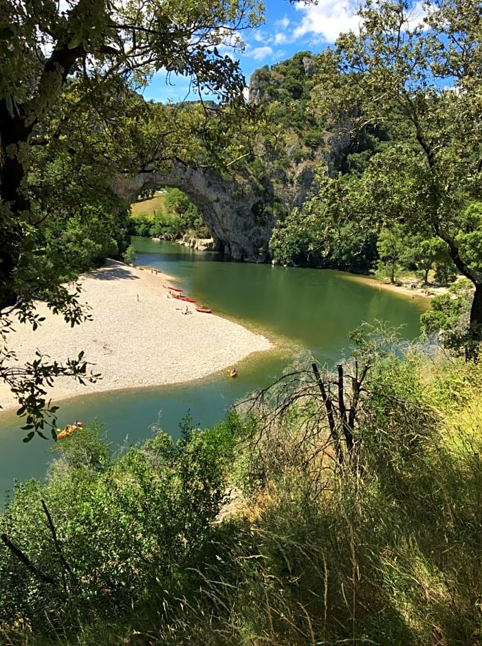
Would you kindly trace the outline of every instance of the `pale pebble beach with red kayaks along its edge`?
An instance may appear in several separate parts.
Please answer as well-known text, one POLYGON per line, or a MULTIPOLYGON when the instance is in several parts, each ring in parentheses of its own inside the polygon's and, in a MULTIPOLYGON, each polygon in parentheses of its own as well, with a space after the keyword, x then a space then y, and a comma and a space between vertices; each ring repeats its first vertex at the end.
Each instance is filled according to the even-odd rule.
MULTIPOLYGON (((65 361, 80 350, 102 379, 85 386, 65 377, 56 380, 49 396, 56 400, 78 394, 162 386, 206 377, 230 368, 254 352, 269 350, 263 336, 215 314, 199 313, 186 303, 166 298, 163 284, 172 279, 110 260, 98 271, 82 276, 81 302, 91 307, 92 321, 71 328, 45 304, 46 317, 35 332, 14 324, 8 335, 19 364, 32 360, 37 348, 52 359, 65 361)), ((12 393, 0 386, 3 410, 14 408, 12 393)))

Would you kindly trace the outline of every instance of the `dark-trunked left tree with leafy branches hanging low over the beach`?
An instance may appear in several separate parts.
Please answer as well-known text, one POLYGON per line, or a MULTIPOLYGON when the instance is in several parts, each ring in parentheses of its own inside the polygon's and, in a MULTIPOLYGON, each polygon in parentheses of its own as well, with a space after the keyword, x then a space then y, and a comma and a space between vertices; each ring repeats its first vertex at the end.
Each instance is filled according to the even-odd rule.
MULTIPOLYGON (((65 263, 56 263, 57 258, 52 260, 46 252, 43 226, 52 203, 65 221, 76 214, 78 204, 63 203, 62 197, 55 201, 56 182, 45 177, 50 174, 52 179, 60 160, 69 166, 67 177, 75 185, 87 166, 101 169, 103 164, 100 176, 107 186, 114 171, 107 160, 113 157, 118 172, 132 172, 129 155, 135 143, 140 157, 146 153, 147 163, 147 153, 159 148, 162 137, 156 129, 168 113, 171 124, 182 130, 182 115, 176 118, 169 107, 157 110, 135 95, 155 71, 187 76, 200 96, 207 91, 220 100, 242 101, 245 81, 239 63, 218 47, 241 48, 241 30, 261 22, 261 9, 257 0, 148 0, 142 6, 120 0, 67 0, 61 5, 49 0, 0 0, 3 342, 12 330, 8 315, 17 314, 34 326, 41 323, 32 305, 39 296, 70 324, 85 318, 78 289, 71 293, 61 284, 65 263), (41 157, 46 164, 41 164, 41 157)), ((160 161, 168 158, 160 155, 160 161)), ((64 180, 65 173, 61 175, 64 180)), ((89 183, 91 179, 85 179, 79 194, 89 183)), ((88 222, 92 204, 88 199, 84 204, 87 212, 82 217, 88 222)), ((111 204, 109 212, 114 208, 111 204)), ((85 377, 87 364, 79 360, 68 368, 41 359, 36 368, 21 372, 20 383, 17 368, 9 363, 13 359, 6 349, 0 354, 0 377, 19 394, 28 427, 39 430, 45 406, 43 379, 58 374, 85 377), (39 381, 33 384, 33 378, 39 381)))

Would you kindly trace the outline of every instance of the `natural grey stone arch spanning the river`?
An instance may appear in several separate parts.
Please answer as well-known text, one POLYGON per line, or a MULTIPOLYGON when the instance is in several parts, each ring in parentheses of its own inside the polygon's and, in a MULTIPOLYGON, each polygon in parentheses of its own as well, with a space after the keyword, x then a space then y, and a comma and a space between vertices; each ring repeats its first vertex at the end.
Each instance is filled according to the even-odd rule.
POLYGON ((131 204, 142 191, 164 186, 179 188, 195 203, 218 249, 234 260, 259 263, 266 259, 274 217, 260 209, 260 197, 248 182, 226 181, 206 168, 173 164, 166 171, 118 176, 113 188, 131 204))

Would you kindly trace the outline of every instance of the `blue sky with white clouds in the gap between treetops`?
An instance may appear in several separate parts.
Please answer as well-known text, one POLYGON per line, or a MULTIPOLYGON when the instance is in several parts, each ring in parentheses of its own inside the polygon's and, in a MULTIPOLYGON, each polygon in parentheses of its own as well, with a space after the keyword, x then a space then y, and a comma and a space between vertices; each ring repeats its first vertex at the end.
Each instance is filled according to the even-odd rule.
MULTIPOLYGON (((302 50, 317 54, 334 43, 340 32, 355 30, 358 25, 356 6, 353 0, 318 0, 318 5, 265 0, 265 25, 243 32, 245 52, 234 56, 241 61, 247 82, 254 69, 274 65, 302 50)), ((223 53, 227 52, 228 49, 223 53)), ((177 102, 187 95, 188 81, 185 78, 171 78, 168 85, 162 73, 156 74, 144 91, 144 98, 155 101, 171 98, 177 102)))

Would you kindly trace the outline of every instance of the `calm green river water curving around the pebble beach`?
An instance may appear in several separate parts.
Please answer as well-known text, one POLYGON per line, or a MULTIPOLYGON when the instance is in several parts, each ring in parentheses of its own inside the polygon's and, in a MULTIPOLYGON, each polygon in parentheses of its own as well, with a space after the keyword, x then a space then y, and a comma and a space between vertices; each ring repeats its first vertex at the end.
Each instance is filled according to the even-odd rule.
MULTIPOLYGON (((402 336, 419 334, 419 315, 426 307, 347 274, 318 269, 272 267, 223 262, 215 253, 195 252, 171 243, 133 238, 137 263, 175 276, 177 285, 222 316, 241 322, 272 339, 275 349, 238 364, 238 379, 226 370, 176 386, 144 388, 76 397, 61 405, 58 425, 73 419, 97 419, 109 441, 136 443, 159 425, 176 436, 179 421, 189 412, 194 423, 208 426, 222 419, 226 408, 281 375, 295 357, 311 353, 322 364, 333 364, 348 350, 347 333, 361 322, 382 320, 403 326, 402 336)), ((195 361, 196 348, 186 348, 195 361)), ((126 361, 136 361, 126 348, 126 361)), ((21 441, 21 422, 11 412, 0 413, 0 491, 13 479, 41 477, 52 458, 52 441, 21 441)), ((3 501, 0 497, 0 506, 3 501)))

